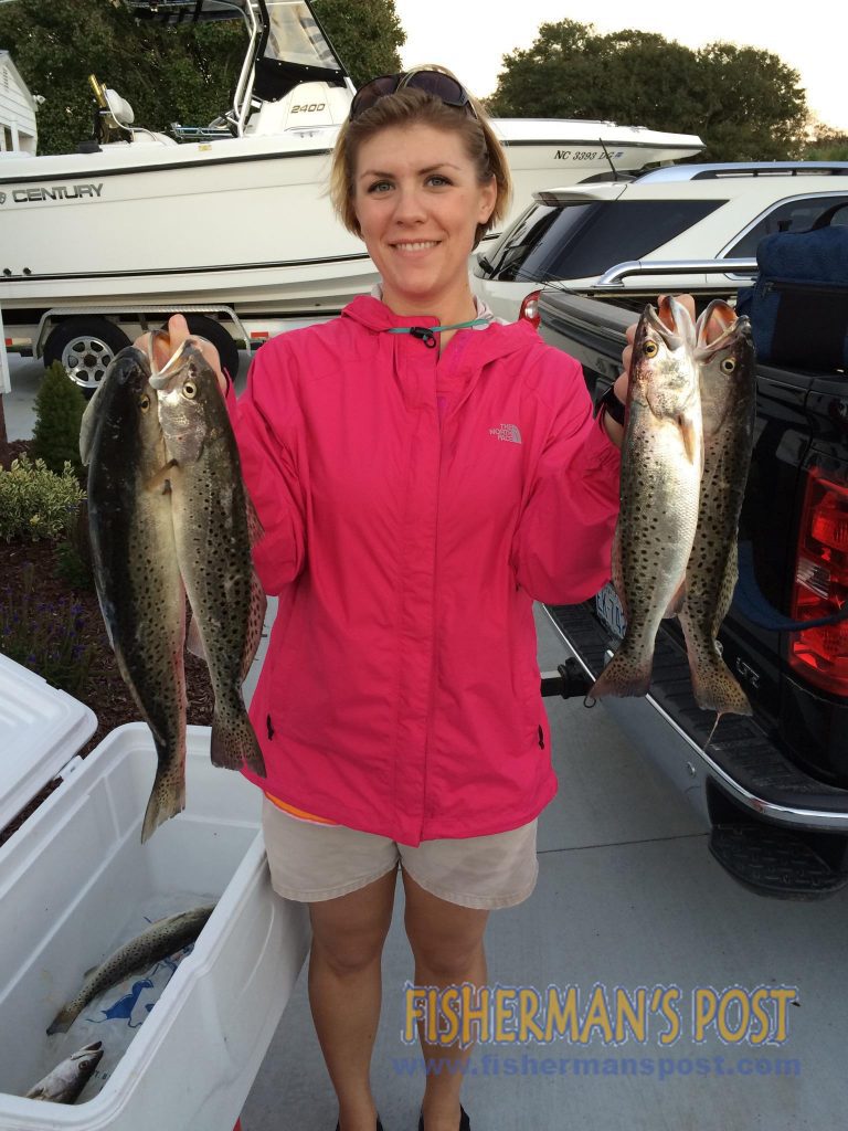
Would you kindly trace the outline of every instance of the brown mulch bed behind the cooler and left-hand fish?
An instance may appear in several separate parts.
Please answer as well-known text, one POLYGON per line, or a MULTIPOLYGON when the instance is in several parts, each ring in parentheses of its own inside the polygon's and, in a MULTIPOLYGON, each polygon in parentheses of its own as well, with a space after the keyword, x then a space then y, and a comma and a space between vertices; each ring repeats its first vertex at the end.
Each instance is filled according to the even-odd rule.
MULTIPOLYGON (((12 459, 26 451, 26 441, 0 443, 0 466, 8 468, 12 459)), ((68 751, 70 759, 73 753, 85 757, 104 739, 110 731, 123 723, 140 718, 138 708, 130 696, 118 670, 112 647, 103 625, 97 595, 94 589, 71 589, 69 584, 55 571, 55 544, 42 542, 0 542, 0 584, 15 594, 23 595, 27 573, 34 568, 37 578, 37 596, 45 603, 67 603, 81 606, 80 642, 92 657, 88 679, 77 698, 92 708, 97 716, 97 729, 90 741, 79 751, 68 751)), ((41 674, 41 673, 40 673, 41 674)), ((214 694, 209 683, 209 673, 204 661, 185 653, 185 683, 188 693, 188 722, 200 726, 211 723, 214 694)), ((34 802, 6 829, 0 830, 0 844, 20 827, 41 802, 50 796, 59 783, 49 785, 34 802)))

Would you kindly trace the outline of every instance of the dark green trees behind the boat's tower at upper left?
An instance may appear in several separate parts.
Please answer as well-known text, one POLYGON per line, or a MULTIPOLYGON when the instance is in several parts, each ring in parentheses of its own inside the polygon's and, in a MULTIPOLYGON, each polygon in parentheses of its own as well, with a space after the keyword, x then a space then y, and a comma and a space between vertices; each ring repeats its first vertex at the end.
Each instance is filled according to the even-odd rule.
MULTIPOLYGON (((317 0, 315 12, 355 83, 398 70, 395 0, 317 0)), ((73 153, 93 132, 95 74, 132 105, 136 122, 206 126, 231 104, 246 34, 241 21, 162 26, 121 0, 18 0, 0 8, 0 45, 34 94, 40 153, 73 153), (84 53, 71 44, 83 44, 84 53)))

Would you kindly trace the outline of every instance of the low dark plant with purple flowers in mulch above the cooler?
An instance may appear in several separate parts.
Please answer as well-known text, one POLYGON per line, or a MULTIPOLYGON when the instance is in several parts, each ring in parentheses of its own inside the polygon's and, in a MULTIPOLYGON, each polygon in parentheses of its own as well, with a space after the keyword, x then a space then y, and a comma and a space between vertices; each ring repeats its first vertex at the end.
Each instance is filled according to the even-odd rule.
POLYGON ((81 605, 38 601, 35 568, 27 564, 24 592, 0 593, 0 651, 79 698, 92 665, 81 605))

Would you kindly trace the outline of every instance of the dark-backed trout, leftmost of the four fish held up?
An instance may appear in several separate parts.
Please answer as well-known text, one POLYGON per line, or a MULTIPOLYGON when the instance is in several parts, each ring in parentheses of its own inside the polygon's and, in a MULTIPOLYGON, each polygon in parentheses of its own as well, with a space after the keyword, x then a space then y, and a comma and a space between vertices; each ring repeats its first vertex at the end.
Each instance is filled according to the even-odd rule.
POLYGON ((142 841, 185 808, 185 597, 149 377, 147 356, 122 349, 88 403, 79 440, 103 620, 156 746, 142 841))

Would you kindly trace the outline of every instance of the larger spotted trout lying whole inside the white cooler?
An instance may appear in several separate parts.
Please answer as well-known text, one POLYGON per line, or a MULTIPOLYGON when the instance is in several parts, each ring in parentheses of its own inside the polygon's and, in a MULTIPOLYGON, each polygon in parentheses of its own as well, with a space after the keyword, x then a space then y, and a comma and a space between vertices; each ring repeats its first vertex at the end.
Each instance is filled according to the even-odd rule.
POLYGON ((188 947, 204 930, 214 910, 215 905, 211 904, 194 907, 190 912, 181 912, 179 915, 168 915, 167 918, 152 924, 142 934, 119 947, 105 961, 86 974, 79 992, 59 1010, 47 1029, 47 1035, 67 1033, 95 998, 99 998, 124 978, 140 974, 155 962, 188 947))

